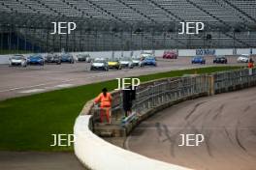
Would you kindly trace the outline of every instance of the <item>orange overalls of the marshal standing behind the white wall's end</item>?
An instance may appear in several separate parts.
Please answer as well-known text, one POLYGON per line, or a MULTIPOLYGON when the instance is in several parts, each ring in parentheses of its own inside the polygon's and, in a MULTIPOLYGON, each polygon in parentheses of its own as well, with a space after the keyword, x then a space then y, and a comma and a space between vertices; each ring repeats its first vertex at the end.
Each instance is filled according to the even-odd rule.
POLYGON ((101 93, 96 99, 94 99, 94 102, 101 103, 101 123, 103 123, 104 115, 106 115, 108 123, 111 124, 110 110, 112 107, 112 95, 110 93, 107 93, 106 96, 104 96, 103 93, 101 93))

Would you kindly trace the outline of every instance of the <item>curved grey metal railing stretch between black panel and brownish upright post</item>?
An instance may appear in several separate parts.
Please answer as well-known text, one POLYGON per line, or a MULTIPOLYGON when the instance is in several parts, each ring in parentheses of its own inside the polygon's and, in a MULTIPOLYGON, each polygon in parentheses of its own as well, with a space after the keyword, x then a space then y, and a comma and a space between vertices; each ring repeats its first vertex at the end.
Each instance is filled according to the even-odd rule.
MULTIPOLYGON (((143 114, 144 111, 176 99, 195 94, 208 93, 209 80, 207 75, 168 79, 156 85, 149 85, 136 95, 133 110, 143 114)), ((139 89, 140 90, 140 89, 139 89)))

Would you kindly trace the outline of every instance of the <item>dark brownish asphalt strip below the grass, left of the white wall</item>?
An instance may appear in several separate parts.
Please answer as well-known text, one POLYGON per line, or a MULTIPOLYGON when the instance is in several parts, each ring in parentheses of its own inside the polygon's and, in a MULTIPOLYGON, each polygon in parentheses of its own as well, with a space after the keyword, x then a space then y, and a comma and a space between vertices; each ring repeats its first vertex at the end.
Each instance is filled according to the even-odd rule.
POLYGON ((85 170, 71 153, 0 152, 1 170, 85 170))

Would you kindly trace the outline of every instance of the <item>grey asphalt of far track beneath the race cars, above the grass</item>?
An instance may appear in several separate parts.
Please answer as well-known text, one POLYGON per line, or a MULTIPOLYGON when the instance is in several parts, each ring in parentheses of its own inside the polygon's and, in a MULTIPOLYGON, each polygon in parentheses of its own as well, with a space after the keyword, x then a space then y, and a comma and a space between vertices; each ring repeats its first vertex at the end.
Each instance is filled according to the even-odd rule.
MULTIPOLYGON (((237 57, 229 58, 229 65, 237 64, 237 57)), ((243 64, 245 66, 245 64, 243 64)), ((61 88, 74 87, 114 78, 137 76, 162 71, 184 70, 208 67, 212 58, 207 58, 207 65, 191 65, 191 57, 179 57, 177 60, 159 59, 158 67, 123 69, 121 71, 89 71, 90 64, 62 64, 8 67, 0 66, 0 100, 43 93, 61 88)), ((219 65, 220 66, 220 65, 219 65)), ((117 87, 117 86, 116 86, 117 87)))

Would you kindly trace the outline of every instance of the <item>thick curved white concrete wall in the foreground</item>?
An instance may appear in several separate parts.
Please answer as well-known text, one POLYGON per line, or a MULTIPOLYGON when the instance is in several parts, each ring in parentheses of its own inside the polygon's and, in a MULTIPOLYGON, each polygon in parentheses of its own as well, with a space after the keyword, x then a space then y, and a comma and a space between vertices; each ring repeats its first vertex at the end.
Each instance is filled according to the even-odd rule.
POLYGON ((74 127, 75 154, 93 170, 189 170, 141 156, 116 147, 96 136, 88 128, 90 115, 77 118, 74 127))

